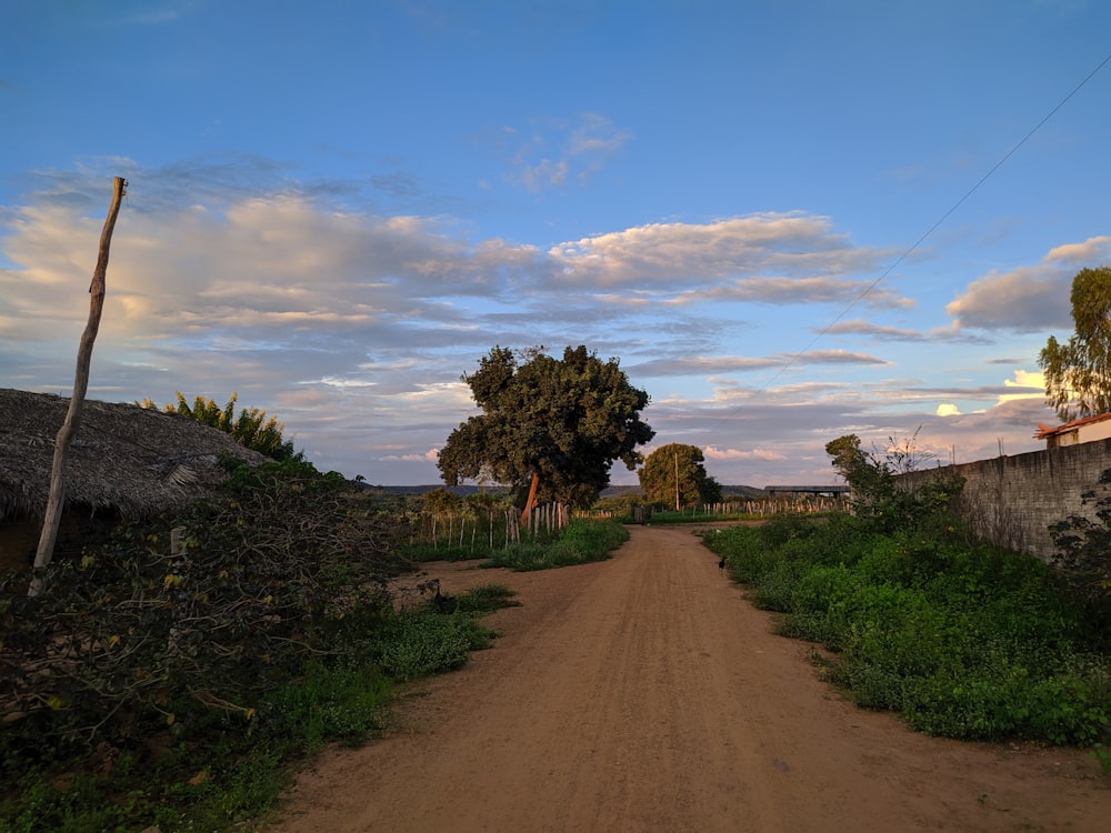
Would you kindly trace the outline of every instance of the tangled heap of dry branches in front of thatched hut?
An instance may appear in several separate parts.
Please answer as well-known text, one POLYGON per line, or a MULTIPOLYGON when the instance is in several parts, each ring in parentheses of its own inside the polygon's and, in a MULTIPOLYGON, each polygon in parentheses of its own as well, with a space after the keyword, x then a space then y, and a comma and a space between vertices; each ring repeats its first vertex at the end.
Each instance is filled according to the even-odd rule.
MULTIPOLYGON (((366 492, 297 462, 239 465, 220 496, 0 580, 7 743, 126 743, 191 714, 254 714, 322 656, 363 650, 399 564, 366 492), (179 539, 171 551, 172 538, 179 539)), ((0 744, 2 745, 2 744, 0 744)))

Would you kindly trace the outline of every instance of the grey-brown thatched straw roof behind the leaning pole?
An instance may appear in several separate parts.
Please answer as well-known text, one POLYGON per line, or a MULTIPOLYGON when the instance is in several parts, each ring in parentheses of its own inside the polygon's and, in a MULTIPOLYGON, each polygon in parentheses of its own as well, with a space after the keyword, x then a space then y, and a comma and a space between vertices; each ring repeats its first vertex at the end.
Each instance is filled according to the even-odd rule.
MULTIPOLYGON (((0 521, 41 518, 50 494, 54 438, 69 399, 0 388, 0 521)), ((128 520, 179 509, 227 475, 221 451, 266 458, 194 420, 134 404, 86 400, 70 442, 66 508, 113 510, 128 520)))

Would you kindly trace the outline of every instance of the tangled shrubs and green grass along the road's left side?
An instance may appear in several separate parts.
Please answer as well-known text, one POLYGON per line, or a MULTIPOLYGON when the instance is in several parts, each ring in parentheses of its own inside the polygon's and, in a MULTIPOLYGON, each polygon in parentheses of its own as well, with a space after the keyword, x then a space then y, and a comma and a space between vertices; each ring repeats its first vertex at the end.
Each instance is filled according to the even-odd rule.
MULTIPOLYGON (((0 831, 217 831, 272 807, 299 762, 359 744, 399 683, 496 636, 503 585, 399 603, 414 564, 396 504, 298 460, 228 462, 212 500, 90 541, 42 592, 0 576, 0 831), (172 543, 171 543, 172 542, 172 543)), ((499 553, 514 569, 604 558, 573 522, 499 553)))

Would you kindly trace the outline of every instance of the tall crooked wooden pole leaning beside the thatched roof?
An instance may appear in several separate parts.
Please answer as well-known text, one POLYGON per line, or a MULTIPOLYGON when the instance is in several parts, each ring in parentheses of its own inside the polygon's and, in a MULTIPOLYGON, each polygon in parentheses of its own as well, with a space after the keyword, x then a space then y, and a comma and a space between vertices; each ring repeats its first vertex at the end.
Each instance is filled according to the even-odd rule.
MULTIPOLYGON (((84 408, 84 394, 89 390, 89 365, 92 362, 92 344, 100 330, 100 314, 104 309, 104 293, 108 275, 108 251, 112 244, 112 231, 116 229, 116 218, 120 213, 120 201, 127 193, 128 182, 122 177, 116 178, 112 192, 112 204, 108 209, 104 229, 100 233, 100 253, 97 258, 97 269, 89 284, 89 321, 81 335, 77 351, 77 373, 73 379, 73 395, 70 398, 66 421, 54 439, 54 460, 50 469, 50 496, 47 500, 47 513, 42 521, 42 534, 39 536, 39 549, 34 553, 36 569, 46 566, 54 553, 58 540, 58 525, 61 523, 62 506, 66 503, 66 464, 69 456, 69 444, 81 424, 81 411, 84 408)), ((29 595, 38 595, 41 589, 40 579, 31 582, 29 595)))

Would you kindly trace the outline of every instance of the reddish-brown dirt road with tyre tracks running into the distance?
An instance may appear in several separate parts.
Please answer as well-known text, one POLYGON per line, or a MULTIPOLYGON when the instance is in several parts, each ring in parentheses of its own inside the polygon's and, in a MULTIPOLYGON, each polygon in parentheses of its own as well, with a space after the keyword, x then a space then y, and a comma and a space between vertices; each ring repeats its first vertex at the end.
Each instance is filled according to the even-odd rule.
POLYGON ((1111 781, 1079 751, 925 737, 820 682, 681 529, 540 573, 446 566, 520 608, 404 722, 329 752, 283 833, 1111 830, 1111 781))

